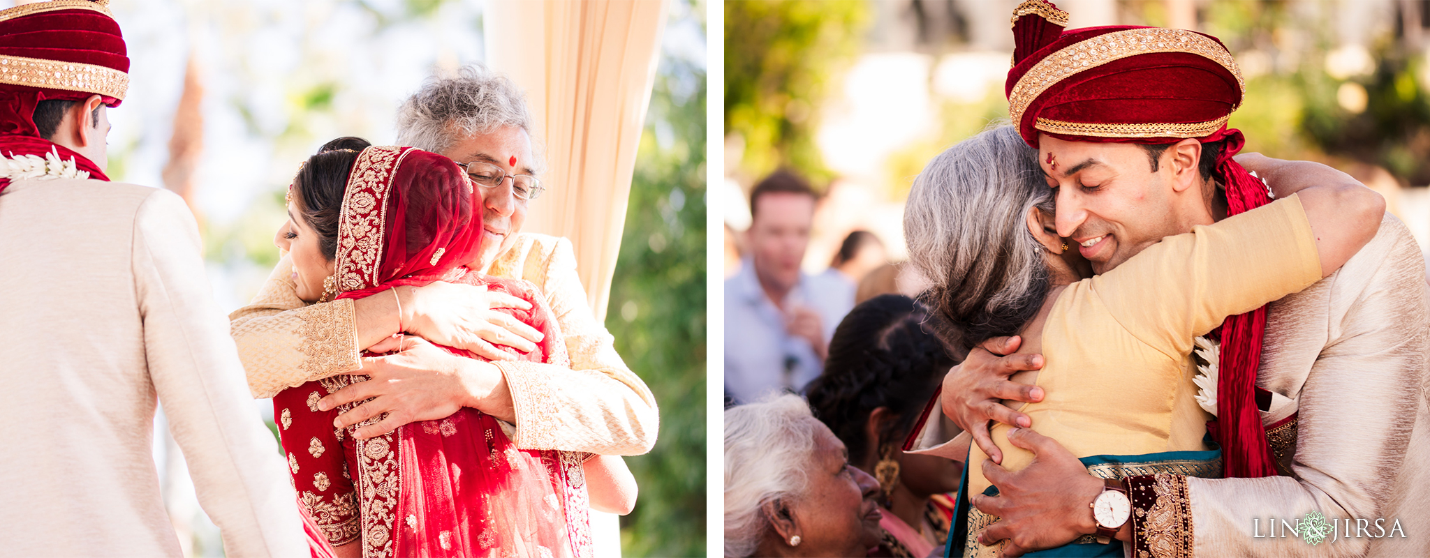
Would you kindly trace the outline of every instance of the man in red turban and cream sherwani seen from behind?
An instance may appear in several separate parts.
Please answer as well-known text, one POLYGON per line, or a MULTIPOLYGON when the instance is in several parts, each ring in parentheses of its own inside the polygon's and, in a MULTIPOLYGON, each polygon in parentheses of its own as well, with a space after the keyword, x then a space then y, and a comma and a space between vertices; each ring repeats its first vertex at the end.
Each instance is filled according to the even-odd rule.
POLYGON ((193 214, 104 176, 127 71, 104 1, 0 10, 0 555, 182 555, 153 461, 156 398, 227 554, 309 555, 193 214))

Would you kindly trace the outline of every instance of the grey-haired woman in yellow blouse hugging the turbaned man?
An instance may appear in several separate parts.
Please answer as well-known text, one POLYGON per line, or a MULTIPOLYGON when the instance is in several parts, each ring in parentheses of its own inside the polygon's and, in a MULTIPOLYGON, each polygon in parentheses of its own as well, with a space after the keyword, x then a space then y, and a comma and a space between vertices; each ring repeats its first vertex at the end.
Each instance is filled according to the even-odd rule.
MULTIPOLYGON (((1028 448, 1042 435, 1065 451, 1040 452, 1040 462, 1081 458, 1093 474, 1084 485, 1067 487, 1068 498, 1098 505, 1084 532, 1057 534, 1083 535, 1070 547, 1084 548, 1068 548, 1067 555, 1121 555, 1121 544, 1114 547, 1111 538, 1130 539, 1133 494, 1124 475, 1220 475, 1220 450, 1204 438, 1211 417, 1197 401, 1204 397, 1193 380, 1193 340, 1228 315, 1334 273, 1376 234, 1384 206, 1376 203, 1379 194, 1327 167, 1253 156, 1244 160, 1248 168, 1291 178, 1271 180, 1276 201, 1165 237, 1093 277, 1078 251, 1068 250, 1071 241, 1057 234, 1054 197, 1141 187, 1138 180, 1155 184, 1174 166, 1164 161, 1163 174, 1153 167, 1150 177, 1110 177, 1060 193, 1048 186, 1037 153, 1011 126, 997 126, 938 154, 909 191, 904 217, 909 261, 932 283, 925 300, 944 318, 940 334, 960 350, 1021 335, 1018 352, 1045 358, 1041 370, 1012 378, 1047 392, 1021 408, 1037 434, 998 424, 991 441, 971 451, 955 442, 921 451, 951 458, 968 451, 964 517, 954 518, 965 522, 968 538, 950 537, 954 554, 1027 551, 1007 548, 1008 541, 980 544, 1000 537, 980 538, 998 518, 978 508, 1000 509, 992 481, 1028 467, 1034 461, 1028 448), (1001 451, 1000 465, 988 461, 991 451, 1001 451)), ((1143 157, 1140 150, 1131 156, 1143 157)), ((1200 171, 1195 164, 1178 168, 1188 181, 1200 171)), ((924 434, 912 445, 925 448, 924 434)))

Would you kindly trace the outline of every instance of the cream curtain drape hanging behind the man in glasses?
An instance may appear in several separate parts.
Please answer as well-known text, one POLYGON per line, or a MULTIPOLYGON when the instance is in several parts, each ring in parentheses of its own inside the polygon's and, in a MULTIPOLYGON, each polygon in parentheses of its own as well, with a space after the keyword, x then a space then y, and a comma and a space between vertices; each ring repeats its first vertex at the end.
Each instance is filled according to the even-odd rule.
POLYGON ((571 240, 605 320, 665 1, 489 1, 483 17, 486 63, 526 90, 545 144, 548 188, 522 230, 571 240))

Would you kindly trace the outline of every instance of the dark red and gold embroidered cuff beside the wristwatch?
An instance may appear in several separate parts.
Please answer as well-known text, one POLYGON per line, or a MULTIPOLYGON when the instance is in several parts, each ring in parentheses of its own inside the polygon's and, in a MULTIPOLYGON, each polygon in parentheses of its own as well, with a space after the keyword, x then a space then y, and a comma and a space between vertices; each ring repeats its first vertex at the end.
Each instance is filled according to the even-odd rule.
POLYGON ((1191 557, 1193 525, 1187 477, 1157 474, 1127 477, 1133 501, 1133 555, 1137 558, 1191 557))

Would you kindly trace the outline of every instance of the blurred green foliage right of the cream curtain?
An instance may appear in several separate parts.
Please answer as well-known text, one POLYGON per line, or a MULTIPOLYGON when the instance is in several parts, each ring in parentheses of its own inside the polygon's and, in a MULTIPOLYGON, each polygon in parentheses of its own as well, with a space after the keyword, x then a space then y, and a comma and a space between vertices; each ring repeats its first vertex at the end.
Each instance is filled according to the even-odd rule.
MULTIPOLYGON (((676 1, 704 36, 704 4, 676 1)), ((655 450, 626 458, 641 487, 621 518, 628 557, 705 555, 705 69, 662 53, 606 315, 661 407, 655 450)))

